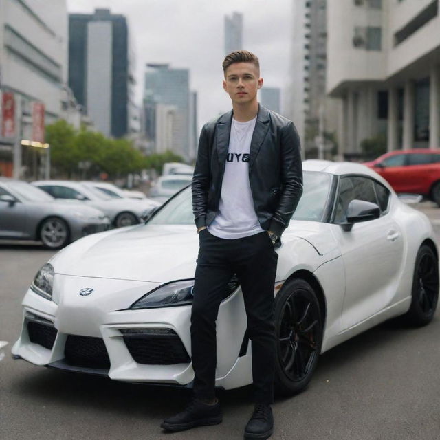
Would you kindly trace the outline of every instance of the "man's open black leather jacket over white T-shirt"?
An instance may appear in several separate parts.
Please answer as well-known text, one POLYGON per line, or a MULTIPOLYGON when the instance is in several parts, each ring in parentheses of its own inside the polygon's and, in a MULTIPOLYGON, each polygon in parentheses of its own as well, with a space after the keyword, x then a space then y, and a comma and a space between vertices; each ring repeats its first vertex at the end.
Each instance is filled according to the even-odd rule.
MULTIPOLYGON (((203 126, 192 177, 192 210, 197 228, 219 209, 228 154, 232 110, 203 126)), ((249 181, 261 228, 281 236, 303 194, 300 139, 294 124, 259 106, 250 146, 249 181)))

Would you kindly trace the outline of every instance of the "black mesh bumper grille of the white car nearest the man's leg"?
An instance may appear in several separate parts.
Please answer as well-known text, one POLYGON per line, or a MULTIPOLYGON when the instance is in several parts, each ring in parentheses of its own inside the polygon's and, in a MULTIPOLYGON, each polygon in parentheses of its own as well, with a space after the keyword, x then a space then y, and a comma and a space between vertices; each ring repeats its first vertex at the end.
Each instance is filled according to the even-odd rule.
POLYGON ((167 335, 126 334, 124 342, 138 364, 173 365, 190 362, 184 344, 174 331, 167 335))

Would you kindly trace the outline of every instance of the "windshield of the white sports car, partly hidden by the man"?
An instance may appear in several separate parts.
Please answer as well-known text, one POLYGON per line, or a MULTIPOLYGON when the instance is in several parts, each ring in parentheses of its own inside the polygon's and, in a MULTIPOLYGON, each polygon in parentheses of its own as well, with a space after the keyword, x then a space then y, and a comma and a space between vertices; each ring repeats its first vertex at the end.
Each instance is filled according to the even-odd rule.
MULTIPOLYGON (((314 171, 304 172, 304 192, 294 220, 322 221, 331 187, 331 175, 314 171)), ((180 192, 148 221, 152 225, 193 225, 191 188, 180 192)))

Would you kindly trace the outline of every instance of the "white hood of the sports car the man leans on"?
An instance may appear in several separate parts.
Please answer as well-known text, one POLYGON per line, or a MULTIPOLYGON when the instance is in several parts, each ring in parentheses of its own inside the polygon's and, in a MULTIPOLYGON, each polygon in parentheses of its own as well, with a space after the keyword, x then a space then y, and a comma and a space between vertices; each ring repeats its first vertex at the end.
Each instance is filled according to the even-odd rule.
MULTIPOLYGON (((336 248, 321 223, 292 223, 283 241, 305 240, 320 255, 336 248)), ((198 250, 192 225, 135 225, 80 239, 50 262, 57 274, 167 283, 194 276, 198 250)))

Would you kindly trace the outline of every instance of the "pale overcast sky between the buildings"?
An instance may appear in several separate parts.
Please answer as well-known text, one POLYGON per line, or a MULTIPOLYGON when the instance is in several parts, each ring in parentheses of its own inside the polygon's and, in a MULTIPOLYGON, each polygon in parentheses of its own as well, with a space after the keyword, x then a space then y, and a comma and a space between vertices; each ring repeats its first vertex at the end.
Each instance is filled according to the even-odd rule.
MULTIPOLYGON (((190 69, 198 125, 231 108, 223 91, 224 16, 243 13, 243 45, 260 60, 267 87, 287 87, 293 0, 67 0, 69 12, 95 8, 123 14, 135 54, 136 103, 142 101, 146 63, 190 69)), ((264 86, 263 86, 264 87, 264 86)))

